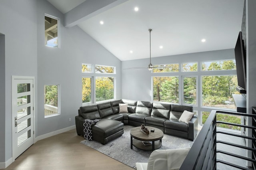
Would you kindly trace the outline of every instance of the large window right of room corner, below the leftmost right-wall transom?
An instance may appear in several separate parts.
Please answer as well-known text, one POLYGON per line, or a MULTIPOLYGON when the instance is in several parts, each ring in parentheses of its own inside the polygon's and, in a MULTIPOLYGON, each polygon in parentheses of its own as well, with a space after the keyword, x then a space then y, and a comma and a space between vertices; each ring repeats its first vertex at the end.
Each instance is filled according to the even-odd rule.
POLYGON ((179 78, 153 77, 153 100, 179 103, 179 78))

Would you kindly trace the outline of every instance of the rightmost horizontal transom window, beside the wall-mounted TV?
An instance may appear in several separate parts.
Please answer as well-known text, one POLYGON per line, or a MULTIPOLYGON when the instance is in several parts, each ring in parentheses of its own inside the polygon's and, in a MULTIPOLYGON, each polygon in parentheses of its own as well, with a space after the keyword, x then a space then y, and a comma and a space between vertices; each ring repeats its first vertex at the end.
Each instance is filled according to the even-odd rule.
POLYGON ((204 61, 202 62, 202 71, 210 70, 235 70, 235 60, 220 60, 220 61, 204 61))

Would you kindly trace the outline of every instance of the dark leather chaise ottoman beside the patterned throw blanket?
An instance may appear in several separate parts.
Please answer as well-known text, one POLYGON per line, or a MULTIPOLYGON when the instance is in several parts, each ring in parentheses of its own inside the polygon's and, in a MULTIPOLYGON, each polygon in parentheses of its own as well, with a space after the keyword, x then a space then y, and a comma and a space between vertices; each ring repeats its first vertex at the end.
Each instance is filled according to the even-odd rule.
POLYGON ((120 121, 100 119, 92 126, 92 140, 102 144, 106 144, 110 140, 122 136, 122 134, 124 134, 124 124, 120 121))

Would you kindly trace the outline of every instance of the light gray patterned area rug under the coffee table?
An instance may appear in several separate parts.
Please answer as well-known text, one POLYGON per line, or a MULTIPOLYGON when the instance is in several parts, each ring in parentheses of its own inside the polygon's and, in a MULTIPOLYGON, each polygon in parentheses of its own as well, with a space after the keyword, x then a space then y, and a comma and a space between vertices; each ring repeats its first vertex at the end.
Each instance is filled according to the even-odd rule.
MULTIPOLYGON (((135 169, 136 162, 148 162, 152 151, 141 150, 135 146, 133 146, 132 149, 130 148, 130 130, 132 128, 134 127, 129 125, 124 126, 124 134, 105 145, 94 140, 83 140, 81 143, 135 169)), ((162 146, 159 149, 188 148, 191 147, 192 144, 193 141, 188 139, 164 134, 162 146)))

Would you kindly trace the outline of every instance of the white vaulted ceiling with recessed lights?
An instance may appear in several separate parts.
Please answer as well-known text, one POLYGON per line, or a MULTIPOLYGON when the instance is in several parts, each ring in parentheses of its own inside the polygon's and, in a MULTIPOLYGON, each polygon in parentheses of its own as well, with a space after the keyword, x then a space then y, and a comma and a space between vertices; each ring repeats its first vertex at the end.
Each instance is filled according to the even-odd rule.
MULTIPOLYGON (((65 14, 85 0, 48 1, 65 14)), ((152 57, 234 48, 241 30, 244 0, 123 1, 77 24, 121 61, 149 57, 149 28, 152 57)))

